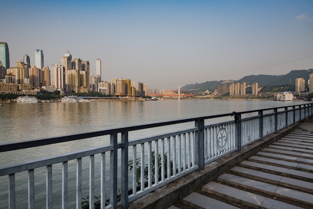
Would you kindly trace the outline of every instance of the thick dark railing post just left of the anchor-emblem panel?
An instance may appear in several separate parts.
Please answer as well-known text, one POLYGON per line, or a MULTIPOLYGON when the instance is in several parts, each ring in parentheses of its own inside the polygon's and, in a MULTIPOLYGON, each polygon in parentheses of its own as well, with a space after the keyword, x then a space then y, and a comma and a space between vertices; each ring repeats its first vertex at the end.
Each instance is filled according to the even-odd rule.
POLYGON ((195 164, 198 170, 204 169, 204 119, 195 120, 195 164))

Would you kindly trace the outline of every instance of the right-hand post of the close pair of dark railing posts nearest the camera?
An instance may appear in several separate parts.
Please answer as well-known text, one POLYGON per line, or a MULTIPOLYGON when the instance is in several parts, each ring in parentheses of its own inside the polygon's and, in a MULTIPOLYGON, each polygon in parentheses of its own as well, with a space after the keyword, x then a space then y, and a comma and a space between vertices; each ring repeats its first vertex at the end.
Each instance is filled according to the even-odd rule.
POLYGON ((128 208, 128 131, 121 132, 121 208, 128 208))

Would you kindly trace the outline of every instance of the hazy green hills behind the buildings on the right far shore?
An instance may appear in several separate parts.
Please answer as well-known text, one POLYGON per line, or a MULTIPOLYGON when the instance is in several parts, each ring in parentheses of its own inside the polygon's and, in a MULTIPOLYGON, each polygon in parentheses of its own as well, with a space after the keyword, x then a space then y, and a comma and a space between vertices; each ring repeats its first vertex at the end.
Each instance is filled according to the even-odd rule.
POLYGON ((214 80, 205 81, 202 83, 186 84, 181 87, 183 90, 187 90, 190 93, 201 92, 205 90, 214 91, 217 89, 218 85, 228 85, 235 82, 246 82, 246 85, 252 85, 254 82, 258 83, 258 86, 270 86, 270 85, 283 85, 283 84, 293 84, 295 83, 295 78, 303 77, 305 83, 309 78, 309 74, 313 73, 313 69, 299 69, 291 70, 285 75, 248 75, 244 76, 239 80, 233 80, 233 82, 225 83, 225 80, 214 80))

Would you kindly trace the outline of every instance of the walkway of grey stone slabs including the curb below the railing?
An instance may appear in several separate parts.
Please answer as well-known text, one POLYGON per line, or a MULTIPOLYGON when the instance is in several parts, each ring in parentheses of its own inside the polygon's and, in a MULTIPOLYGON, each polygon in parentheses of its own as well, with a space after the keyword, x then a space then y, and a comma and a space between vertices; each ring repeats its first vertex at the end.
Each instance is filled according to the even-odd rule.
POLYGON ((249 144, 129 205, 167 207, 313 208, 313 117, 249 144), (170 207, 169 202, 173 204, 170 207))

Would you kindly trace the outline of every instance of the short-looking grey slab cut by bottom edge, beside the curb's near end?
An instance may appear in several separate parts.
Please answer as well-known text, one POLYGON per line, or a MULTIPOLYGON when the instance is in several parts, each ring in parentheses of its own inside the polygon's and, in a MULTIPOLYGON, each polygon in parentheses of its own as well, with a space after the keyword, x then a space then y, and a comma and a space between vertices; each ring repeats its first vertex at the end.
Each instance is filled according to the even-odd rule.
POLYGON ((235 209, 235 207, 231 204, 227 204, 225 202, 219 201, 217 199, 213 199, 211 197, 205 196, 200 193, 192 192, 185 198, 184 201, 190 202, 195 206, 200 206, 201 208, 205 209, 216 209, 216 208, 223 208, 223 209, 235 209))

